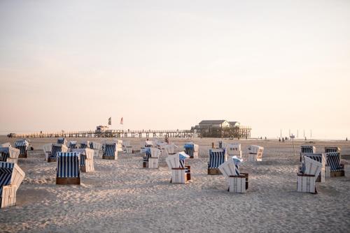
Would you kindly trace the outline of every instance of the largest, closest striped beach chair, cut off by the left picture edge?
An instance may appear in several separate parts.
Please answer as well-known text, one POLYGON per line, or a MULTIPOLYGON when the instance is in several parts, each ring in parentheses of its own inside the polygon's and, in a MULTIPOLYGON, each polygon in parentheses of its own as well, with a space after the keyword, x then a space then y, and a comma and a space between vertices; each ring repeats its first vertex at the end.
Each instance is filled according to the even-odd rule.
POLYGON ((25 172, 15 163, 0 162, 0 202, 1 208, 15 206, 16 193, 25 172))

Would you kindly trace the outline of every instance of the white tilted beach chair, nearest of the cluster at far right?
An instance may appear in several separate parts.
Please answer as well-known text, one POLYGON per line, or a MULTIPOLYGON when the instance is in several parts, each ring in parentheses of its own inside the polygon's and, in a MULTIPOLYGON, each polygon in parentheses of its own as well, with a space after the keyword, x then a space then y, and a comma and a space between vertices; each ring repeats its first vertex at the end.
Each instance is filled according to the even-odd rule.
POLYGON ((302 156, 302 170, 297 174, 297 192, 317 193, 315 182, 322 166, 322 163, 307 156, 302 156))

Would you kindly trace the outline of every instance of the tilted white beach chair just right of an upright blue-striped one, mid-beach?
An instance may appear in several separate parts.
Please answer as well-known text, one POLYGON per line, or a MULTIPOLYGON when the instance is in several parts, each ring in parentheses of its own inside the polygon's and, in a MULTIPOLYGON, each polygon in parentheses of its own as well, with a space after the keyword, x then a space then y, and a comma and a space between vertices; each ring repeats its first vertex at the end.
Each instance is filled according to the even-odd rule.
POLYGON ((218 169, 228 180, 228 191, 230 193, 246 193, 248 189, 248 173, 239 172, 241 158, 234 156, 221 164, 218 169))

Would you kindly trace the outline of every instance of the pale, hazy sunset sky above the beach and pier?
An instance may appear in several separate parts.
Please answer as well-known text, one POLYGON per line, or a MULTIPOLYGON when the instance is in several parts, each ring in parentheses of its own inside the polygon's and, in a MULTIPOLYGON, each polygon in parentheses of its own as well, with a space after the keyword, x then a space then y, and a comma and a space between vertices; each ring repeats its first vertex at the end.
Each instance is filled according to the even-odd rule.
POLYGON ((350 137, 350 1, 0 1, 0 134, 350 137), (120 125, 123 117, 124 124, 120 125))

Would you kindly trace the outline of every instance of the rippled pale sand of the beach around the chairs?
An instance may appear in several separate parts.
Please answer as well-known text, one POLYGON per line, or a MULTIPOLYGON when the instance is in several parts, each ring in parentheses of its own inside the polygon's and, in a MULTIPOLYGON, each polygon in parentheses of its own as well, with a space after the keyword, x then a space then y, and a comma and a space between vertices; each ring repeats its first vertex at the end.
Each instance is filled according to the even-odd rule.
MULTIPOLYGON (((0 142, 14 140, 0 137, 0 142)), ((44 161, 40 147, 55 140, 33 138, 34 151, 19 158, 25 180, 17 206, 0 209, 0 232, 350 231, 350 142, 314 144, 317 151, 340 146, 347 176, 316 183, 318 195, 312 195, 296 191, 299 156, 293 156, 290 142, 239 140, 244 156, 251 144, 265 151, 262 162, 241 166, 241 172, 249 173, 247 193, 233 194, 222 175, 207 175, 208 150, 216 139, 193 140, 200 145, 200 158, 187 162, 192 169, 189 183, 169 183, 164 158, 158 170, 148 170, 141 168, 141 154, 120 153, 118 160, 95 158, 95 172, 82 173, 80 186, 55 184, 56 165, 44 161)), ((139 149, 144 139, 127 140, 139 149)), ((188 142, 170 140, 179 148, 188 142)), ((296 142, 296 151, 304 143, 296 142)))

